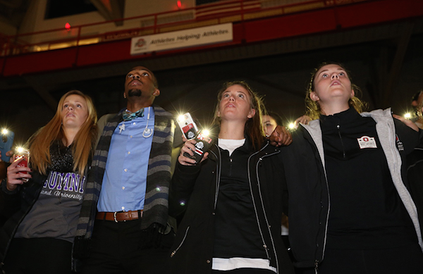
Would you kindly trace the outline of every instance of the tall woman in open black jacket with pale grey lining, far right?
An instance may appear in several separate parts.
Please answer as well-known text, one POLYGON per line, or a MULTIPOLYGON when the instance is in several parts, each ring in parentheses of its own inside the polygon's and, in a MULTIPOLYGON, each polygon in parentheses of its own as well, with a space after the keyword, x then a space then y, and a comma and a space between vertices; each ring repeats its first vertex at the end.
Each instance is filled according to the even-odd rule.
POLYGON ((405 178, 405 156, 422 136, 391 109, 362 112, 358 91, 343 66, 319 66, 306 97, 315 120, 281 149, 294 265, 307 274, 423 273, 405 178))

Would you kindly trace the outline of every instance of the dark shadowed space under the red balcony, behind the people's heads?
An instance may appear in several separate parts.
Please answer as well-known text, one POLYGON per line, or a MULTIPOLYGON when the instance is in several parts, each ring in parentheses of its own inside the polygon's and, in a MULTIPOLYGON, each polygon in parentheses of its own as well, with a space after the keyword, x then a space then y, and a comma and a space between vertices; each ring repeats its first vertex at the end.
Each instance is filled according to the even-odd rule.
POLYGON ((370 109, 392 106, 403 114, 410 109, 412 94, 423 88, 422 45, 423 18, 411 18, 106 66, 0 77, 0 125, 11 127, 17 142, 25 142, 54 115, 46 98, 59 101, 71 89, 90 94, 99 116, 116 112, 125 106, 125 74, 137 65, 151 68, 159 80, 161 95, 155 103, 169 111, 190 111, 206 125, 213 116, 216 91, 228 80, 247 80, 264 95, 269 110, 286 122, 297 118, 305 111, 309 75, 322 61, 344 63, 370 109))

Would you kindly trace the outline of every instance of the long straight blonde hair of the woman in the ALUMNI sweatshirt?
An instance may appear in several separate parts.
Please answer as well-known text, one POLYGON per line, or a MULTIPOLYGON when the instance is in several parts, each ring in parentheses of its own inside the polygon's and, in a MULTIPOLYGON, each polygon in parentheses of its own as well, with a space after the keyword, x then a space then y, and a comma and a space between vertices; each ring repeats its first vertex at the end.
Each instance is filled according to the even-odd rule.
POLYGON ((31 168, 39 173, 47 175, 47 166, 51 163, 50 147, 56 140, 63 139, 65 133, 62 126, 62 109, 65 99, 69 95, 79 95, 87 102, 87 120, 81 125, 75 139, 73 140, 73 171, 84 175, 87 163, 92 156, 93 146, 97 137, 97 112, 90 96, 83 94, 79 90, 67 92, 59 101, 56 114, 47 125, 40 128, 29 140, 31 153, 31 168))

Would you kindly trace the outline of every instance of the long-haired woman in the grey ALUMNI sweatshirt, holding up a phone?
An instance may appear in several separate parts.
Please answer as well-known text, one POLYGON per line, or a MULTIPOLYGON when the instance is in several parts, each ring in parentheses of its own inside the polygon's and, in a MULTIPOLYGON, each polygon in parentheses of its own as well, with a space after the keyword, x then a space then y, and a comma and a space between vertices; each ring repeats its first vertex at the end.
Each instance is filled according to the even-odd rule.
POLYGON ((64 94, 56 115, 29 141, 30 167, 18 158, 1 182, 0 261, 4 273, 71 273, 73 238, 85 194, 97 113, 90 96, 64 94))

